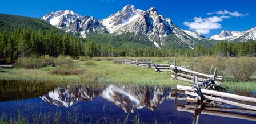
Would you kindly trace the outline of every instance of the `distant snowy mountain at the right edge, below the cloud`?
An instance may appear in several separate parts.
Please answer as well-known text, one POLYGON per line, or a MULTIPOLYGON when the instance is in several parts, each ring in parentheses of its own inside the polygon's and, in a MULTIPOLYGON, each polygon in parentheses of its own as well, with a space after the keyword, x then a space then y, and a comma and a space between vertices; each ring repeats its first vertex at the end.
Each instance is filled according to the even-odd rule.
POLYGON ((211 36, 214 40, 236 40, 240 42, 247 41, 249 39, 256 40, 256 27, 247 31, 221 31, 219 35, 211 36))

